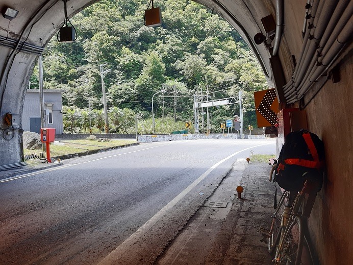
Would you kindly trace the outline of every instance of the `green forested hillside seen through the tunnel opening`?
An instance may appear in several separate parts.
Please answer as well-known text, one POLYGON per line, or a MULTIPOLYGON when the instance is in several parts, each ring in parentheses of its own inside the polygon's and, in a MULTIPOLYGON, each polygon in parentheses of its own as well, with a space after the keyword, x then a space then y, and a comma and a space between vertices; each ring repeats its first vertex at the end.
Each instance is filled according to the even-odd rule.
MULTIPOLYGON (((140 132, 152 132, 152 96, 162 86, 168 118, 156 122, 157 132, 182 130, 185 121, 193 121, 194 94, 201 91, 204 100, 213 100, 236 96, 242 89, 244 128, 256 125, 253 91, 265 89, 266 80, 240 35, 212 10, 185 0, 154 1, 155 7, 162 8, 163 26, 148 28, 143 25, 147 4, 142 0, 100 1, 70 19, 77 41, 60 43, 54 37, 47 44, 44 88, 67 91, 63 94, 66 130, 87 130, 89 99, 95 130, 103 129, 100 64, 110 70, 104 81, 112 132, 131 132, 135 114, 140 117, 140 132)), ((31 88, 35 84, 38 68, 31 77, 31 88)), ((156 118, 162 117, 161 95, 154 98, 156 118)), ((239 115, 239 106, 209 111, 212 132, 219 132, 219 123, 239 115)))

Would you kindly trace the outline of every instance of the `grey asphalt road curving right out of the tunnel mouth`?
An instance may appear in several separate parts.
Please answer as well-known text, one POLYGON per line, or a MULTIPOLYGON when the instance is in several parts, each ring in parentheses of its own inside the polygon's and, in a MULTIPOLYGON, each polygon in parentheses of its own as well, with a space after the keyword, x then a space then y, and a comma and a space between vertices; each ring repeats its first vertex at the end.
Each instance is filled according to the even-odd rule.
POLYGON ((148 143, 1 180, 0 264, 152 263, 250 150, 274 141, 148 143))

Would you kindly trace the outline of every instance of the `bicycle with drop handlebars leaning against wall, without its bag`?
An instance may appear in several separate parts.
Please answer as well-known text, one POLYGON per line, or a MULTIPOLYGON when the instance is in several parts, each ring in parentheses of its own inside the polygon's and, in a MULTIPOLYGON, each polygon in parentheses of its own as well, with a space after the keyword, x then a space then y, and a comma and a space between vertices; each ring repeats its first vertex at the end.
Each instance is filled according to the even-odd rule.
MULTIPOLYGON (((273 165, 269 180, 272 180, 273 165)), ((261 242, 268 244, 268 252, 275 251, 273 264, 299 265, 302 264, 302 251, 308 250, 307 256, 311 259, 311 264, 315 264, 315 257, 310 248, 310 242, 305 234, 306 217, 310 215, 313 202, 306 204, 305 195, 315 194, 316 177, 312 173, 303 174, 307 180, 303 188, 295 193, 284 191, 276 211, 272 214, 270 229, 260 227, 257 231, 263 236, 261 242), (291 205, 291 206, 290 206, 291 205), (308 212, 309 211, 309 212, 308 212), (268 241, 267 241, 268 240, 268 241), (304 246, 306 246, 304 248, 304 246)), ((315 197, 314 197, 315 198, 315 197)))

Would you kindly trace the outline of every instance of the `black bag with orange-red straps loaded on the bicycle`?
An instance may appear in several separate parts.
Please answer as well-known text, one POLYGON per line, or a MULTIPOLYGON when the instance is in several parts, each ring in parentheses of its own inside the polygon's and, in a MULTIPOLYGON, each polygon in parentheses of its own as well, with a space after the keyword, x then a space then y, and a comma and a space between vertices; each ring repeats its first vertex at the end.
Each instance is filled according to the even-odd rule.
POLYGON ((325 153, 320 138, 306 130, 287 135, 276 166, 274 181, 288 191, 299 191, 307 176, 315 176, 317 191, 323 180, 325 153), (307 176, 302 176, 309 172, 307 176))

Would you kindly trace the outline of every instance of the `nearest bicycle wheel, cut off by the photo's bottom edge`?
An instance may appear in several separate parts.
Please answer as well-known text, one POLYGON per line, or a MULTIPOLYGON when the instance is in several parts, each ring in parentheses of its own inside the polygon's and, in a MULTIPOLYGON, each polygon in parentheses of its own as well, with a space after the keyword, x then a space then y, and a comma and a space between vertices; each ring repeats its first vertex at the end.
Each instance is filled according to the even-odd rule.
POLYGON ((280 249, 280 264, 300 265, 303 247, 304 230, 301 218, 295 218, 287 224, 287 229, 280 249))

